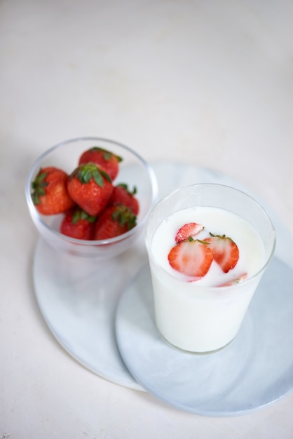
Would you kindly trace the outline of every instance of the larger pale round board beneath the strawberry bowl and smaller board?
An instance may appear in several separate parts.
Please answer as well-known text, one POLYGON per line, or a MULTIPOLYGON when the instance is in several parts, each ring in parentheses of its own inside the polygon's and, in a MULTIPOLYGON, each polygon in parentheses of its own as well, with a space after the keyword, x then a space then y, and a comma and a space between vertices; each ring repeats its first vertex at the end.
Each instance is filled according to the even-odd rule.
MULTIPOLYGON (((254 195, 239 182, 212 170, 176 163, 155 163, 153 168, 159 198, 177 187, 200 182, 228 184, 254 195)), ((269 213, 278 234, 276 255, 287 255, 289 232, 274 212, 269 213)), ((143 235, 123 255, 99 266, 57 254, 43 240, 34 255, 36 299, 57 341, 97 375, 137 390, 143 388, 126 369, 116 346, 115 312, 121 292, 146 263, 143 235)))

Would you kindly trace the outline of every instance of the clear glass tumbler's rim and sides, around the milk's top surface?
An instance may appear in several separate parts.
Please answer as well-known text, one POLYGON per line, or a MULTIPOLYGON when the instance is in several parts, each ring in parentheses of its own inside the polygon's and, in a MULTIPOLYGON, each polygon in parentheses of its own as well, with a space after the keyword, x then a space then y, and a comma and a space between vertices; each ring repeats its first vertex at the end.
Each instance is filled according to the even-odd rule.
MULTIPOLYGON (((194 219, 196 222, 196 215, 194 219)), ((212 220, 216 229, 217 215, 212 220)), ((229 236, 229 230, 226 235, 229 236)), ((241 236, 241 241, 245 242, 245 229, 241 229, 241 236)), ((158 201, 147 221, 146 243, 156 325, 165 340, 179 349, 194 353, 217 351, 229 344, 240 329, 247 307, 275 250, 275 229, 264 208, 238 189, 222 184, 193 184, 177 189, 158 201), (262 257, 250 276, 229 286, 207 286, 197 281, 186 281, 177 276, 175 270, 164 266, 162 259, 168 258, 168 252, 165 255, 160 252, 159 256, 158 252, 154 252, 156 230, 166 218, 188 208, 219 208, 238 215, 252 226, 259 236, 262 257)), ((164 243, 159 244, 161 247, 164 243)), ((241 248, 239 250, 241 252, 241 248)))

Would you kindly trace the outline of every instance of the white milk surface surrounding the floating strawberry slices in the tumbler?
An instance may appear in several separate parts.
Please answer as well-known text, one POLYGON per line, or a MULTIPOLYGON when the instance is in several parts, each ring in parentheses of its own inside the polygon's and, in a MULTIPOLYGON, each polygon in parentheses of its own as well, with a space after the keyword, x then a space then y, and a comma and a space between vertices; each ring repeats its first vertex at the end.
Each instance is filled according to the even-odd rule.
POLYGON ((259 235, 245 219, 232 212, 219 208, 194 207, 179 210, 167 217, 154 233, 151 243, 151 253, 163 269, 172 276, 189 281, 187 276, 172 269, 168 262, 168 253, 176 244, 175 236, 180 227, 189 222, 202 224, 205 229, 194 236, 194 239, 204 241, 213 235, 226 235, 233 239, 239 248, 238 263, 228 273, 224 273, 216 262, 212 262, 207 274, 196 282, 197 285, 219 286, 223 283, 247 273, 247 278, 253 276, 264 262, 264 248, 259 235))

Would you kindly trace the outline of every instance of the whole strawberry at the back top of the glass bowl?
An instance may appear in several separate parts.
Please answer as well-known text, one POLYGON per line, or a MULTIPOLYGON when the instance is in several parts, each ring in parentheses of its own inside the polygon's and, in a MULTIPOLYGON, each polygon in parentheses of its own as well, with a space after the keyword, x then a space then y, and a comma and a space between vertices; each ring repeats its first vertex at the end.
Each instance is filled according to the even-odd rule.
POLYGON ((103 168, 113 181, 118 174, 119 162, 122 161, 120 156, 116 156, 111 151, 100 147, 87 149, 79 158, 79 165, 84 163, 96 163, 103 168))

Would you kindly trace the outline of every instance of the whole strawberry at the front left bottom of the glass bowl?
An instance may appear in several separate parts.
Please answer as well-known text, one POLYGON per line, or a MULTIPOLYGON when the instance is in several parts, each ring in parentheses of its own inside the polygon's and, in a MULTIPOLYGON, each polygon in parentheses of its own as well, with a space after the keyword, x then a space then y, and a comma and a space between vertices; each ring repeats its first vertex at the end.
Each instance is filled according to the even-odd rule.
POLYGON ((95 217, 91 217, 81 208, 73 208, 64 215, 60 225, 60 232, 71 238, 93 239, 95 219, 95 217))

